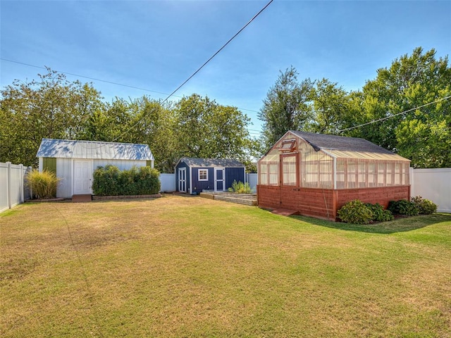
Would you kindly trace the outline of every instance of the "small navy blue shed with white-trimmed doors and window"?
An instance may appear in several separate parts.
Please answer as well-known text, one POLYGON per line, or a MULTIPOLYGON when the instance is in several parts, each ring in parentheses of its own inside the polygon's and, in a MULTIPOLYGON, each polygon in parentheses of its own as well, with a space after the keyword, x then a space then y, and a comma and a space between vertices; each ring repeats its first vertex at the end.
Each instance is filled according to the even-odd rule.
POLYGON ((175 165, 175 189, 189 194, 226 192, 233 181, 245 182, 245 171, 244 164, 231 159, 183 157, 175 165))

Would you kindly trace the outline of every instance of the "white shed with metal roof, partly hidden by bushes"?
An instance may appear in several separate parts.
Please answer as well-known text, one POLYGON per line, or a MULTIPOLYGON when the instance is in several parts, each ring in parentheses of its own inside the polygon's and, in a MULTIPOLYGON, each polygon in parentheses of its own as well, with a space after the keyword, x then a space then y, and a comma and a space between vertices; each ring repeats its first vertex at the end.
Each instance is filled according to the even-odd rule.
POLYGON ((92 194, 92 173, 99 166, 154 168, 154 156, 147 144, 42 139, 36 156, 39 171, 51 170, 61 178, 56 196, 63 198, 92 194))

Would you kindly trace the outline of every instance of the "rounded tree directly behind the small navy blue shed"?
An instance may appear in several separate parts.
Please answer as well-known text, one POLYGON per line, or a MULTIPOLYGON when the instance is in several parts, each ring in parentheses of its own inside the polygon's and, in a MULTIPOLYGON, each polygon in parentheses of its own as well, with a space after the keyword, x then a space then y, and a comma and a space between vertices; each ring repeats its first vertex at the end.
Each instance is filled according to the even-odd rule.
POLYGON ((231 106, 198 94, 175 104, 179 156, 199 158, 247 158, 247 115, 231 106))

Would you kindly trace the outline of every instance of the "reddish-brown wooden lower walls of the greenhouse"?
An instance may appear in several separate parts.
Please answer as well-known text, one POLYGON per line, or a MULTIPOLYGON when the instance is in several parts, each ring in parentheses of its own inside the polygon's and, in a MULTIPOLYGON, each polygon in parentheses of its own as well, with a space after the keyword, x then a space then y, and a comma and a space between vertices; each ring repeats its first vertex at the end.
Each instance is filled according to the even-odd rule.
POLYGON ((410 199, 410 186, 333 190, 257 185, 261 208, 290 209, 326 220, 336 220, 338 209, 354 199, 386 208, 389 201, 410 199))

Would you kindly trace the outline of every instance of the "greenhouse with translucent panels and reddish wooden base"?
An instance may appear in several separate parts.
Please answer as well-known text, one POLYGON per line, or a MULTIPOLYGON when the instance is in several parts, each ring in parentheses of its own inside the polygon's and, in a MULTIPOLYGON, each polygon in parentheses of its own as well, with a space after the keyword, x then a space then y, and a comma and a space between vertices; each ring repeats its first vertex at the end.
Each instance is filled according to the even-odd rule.
POLYGON ((410 161, 365 139, 288 131, 258 161, 258 204, 336 220, 348 201, 409 199, 410 161))

